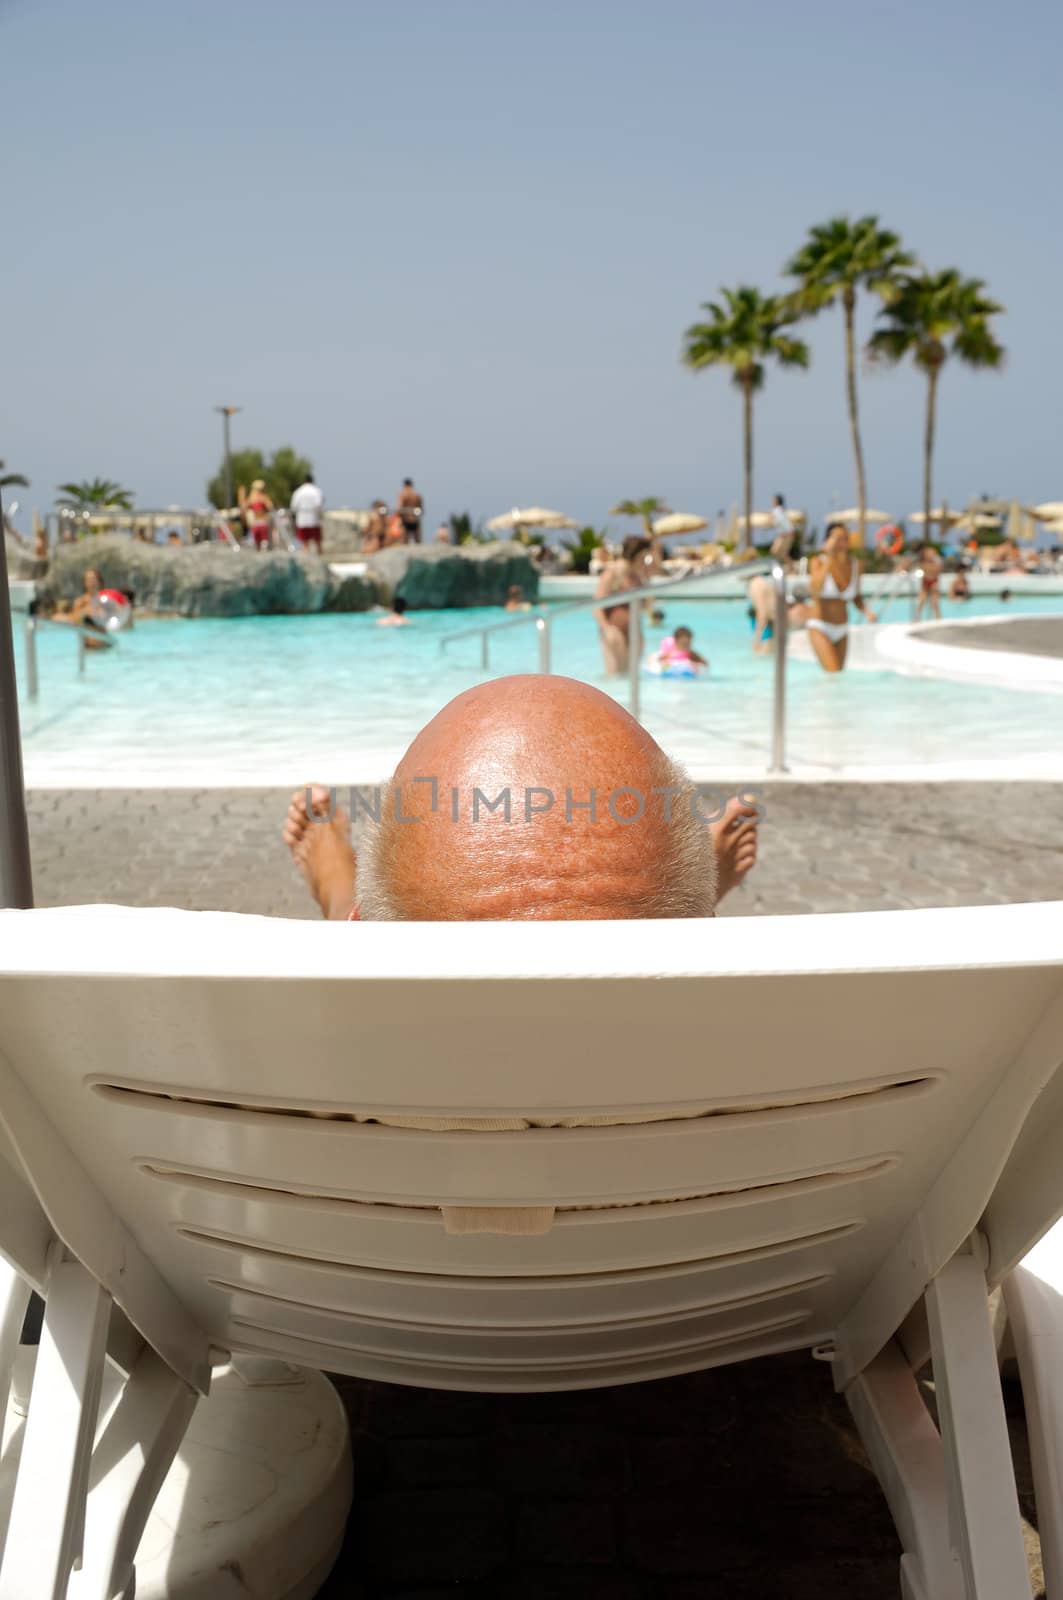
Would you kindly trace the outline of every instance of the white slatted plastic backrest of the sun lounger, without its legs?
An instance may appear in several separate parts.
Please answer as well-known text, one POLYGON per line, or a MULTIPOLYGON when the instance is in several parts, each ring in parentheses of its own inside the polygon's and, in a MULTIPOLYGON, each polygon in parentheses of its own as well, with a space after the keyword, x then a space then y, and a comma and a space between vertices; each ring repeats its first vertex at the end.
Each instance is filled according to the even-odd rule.
POLYGON ((860 1363, 978 1224, 1063 1058, 1058 906, 11 915, 0 1051, 207 1338, 405 1382, 829 1341, 860 1363), (623 1122, 357 1120, 514 1117, 623 1122))

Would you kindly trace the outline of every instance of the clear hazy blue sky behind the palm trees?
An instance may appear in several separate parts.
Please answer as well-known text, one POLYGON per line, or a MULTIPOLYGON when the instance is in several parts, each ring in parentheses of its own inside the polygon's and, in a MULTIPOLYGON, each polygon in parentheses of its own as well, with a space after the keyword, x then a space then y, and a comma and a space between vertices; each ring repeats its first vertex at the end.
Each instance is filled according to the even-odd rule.
MULTIPOLYGON (((203 502, 293 443, 427 515, 740 491, 679 365, 720 283, 877 211, 1007 306, 948 371, 938 491, 1063 498, 1058 0, 0 0, 0 456, 203 502)), ((757 501, 853 494, 837 314, 757 405, 757 501)), ((863 381, 869 494, 921 499, 922 384, 863 381)), ((22 522, 22 515, 18 518, 22 522)))

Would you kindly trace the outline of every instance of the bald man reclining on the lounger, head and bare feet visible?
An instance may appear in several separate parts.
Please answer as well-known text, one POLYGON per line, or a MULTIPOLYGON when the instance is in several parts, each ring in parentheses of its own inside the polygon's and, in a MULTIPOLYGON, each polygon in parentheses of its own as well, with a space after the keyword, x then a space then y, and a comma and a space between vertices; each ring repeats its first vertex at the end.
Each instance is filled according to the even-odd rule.
MULTIPOLYGON (((328 790, 314 789, 317 816, 328 790)), ((355 858, 351 819, 283 837, 333 922, 711 917, 749 872, 757 808, 709 819, 682 768, 608 694, 496 678, 458 694, 402 757, 355 858)))

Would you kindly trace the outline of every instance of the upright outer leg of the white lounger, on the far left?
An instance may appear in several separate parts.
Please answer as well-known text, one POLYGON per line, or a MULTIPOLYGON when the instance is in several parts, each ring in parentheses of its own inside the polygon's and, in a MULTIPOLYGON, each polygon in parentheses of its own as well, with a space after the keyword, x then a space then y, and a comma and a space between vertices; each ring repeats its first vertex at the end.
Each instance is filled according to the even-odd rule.
POLYGON ((64 1600, 85 1525, 110 1296, 78 1261, 48 1277, 0 1600, 64 1600))

